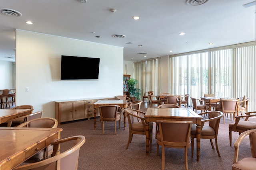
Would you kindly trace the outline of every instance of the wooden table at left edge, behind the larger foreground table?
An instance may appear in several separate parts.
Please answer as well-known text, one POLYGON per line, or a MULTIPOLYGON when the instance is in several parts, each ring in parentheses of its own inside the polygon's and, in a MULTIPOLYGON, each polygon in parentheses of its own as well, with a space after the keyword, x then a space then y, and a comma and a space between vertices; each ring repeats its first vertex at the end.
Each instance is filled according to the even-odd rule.
POLYGON ((32 114, 33 109, 0 109, 0 124, 9 120, 32 114))

